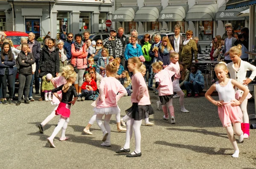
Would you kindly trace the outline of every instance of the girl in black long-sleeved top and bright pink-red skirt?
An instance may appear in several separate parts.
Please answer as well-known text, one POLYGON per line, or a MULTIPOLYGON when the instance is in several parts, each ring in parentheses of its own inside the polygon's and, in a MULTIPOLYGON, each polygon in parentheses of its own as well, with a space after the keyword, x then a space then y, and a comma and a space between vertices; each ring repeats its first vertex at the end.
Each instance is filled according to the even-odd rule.
POLYGON ((69 139, 65 136, 65 132, 67 129, 67 124, 69 123, 70 106, 71 104, 74 105, 77 99, 76 87, 72 86, 72 84, 76 81, 76 72, 74 70, 67 70, 66 72, 62 72, 61 75, 65 77, 67 83, 52 90, 54 96, 57 97, 59 101, 61 101, 58 105, 57 110, 55 110, 56 115, 61 115, 60 121, 58 122, 57 127, 55 127, 54 131, 52 132, 52 135, 47 138, 49 146, 53 148, 55 147, 55 145, 53 144, 53 139, 61 130, 61 128, 62 134, 59 140, 64 141, 69 139), (61 91, 62 98, 58 96, 58 91, 61 91))

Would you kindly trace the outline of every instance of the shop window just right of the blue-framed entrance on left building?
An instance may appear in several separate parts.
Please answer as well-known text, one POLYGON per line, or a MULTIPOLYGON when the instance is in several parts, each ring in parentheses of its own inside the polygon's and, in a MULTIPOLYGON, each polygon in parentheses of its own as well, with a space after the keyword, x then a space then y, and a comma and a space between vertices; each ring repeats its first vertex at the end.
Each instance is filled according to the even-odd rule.
POLYGON ((70 32, 70 12, 58 12, 57 14, 57 38, 63 32, 70 32))

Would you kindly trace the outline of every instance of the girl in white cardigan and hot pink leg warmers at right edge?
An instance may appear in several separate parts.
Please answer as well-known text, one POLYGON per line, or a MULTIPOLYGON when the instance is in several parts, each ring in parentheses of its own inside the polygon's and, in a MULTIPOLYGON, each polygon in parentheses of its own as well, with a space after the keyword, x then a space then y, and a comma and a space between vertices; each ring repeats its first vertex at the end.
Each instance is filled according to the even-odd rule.
MULTIPOLYGON (((240 56, 242 54, 241 48, 242 48, 241 45, 233 46, 232 48, 230 48, 230 59, 232 60, 232 62, 227 64, 227 69, 230 73, 231 79, 235 79, 241 85, 244 85, 247 87, 247 85, 256 76, 256 67, 240 59, 240 56), (246 78, 246 72, 248 70, 251 70, 252 74, 250 75, 249 78, 246 78)), ((236 99, 239 100, 243 92, 240 90, 239 87, 236 87, 235 91, 236 91, 236 99)), ((244 101, 241 102, 241 105, 240 105, 240 108, 243 112, 243 122, 241 123, 241 128, 244 132, 244 138, 248 138, 250 135, 249 116, 247 114, 247 101, 248 99, 250 99, 250 97, 252 97, 252 95, 248 93, 248 95, 246 96, 244 101)))

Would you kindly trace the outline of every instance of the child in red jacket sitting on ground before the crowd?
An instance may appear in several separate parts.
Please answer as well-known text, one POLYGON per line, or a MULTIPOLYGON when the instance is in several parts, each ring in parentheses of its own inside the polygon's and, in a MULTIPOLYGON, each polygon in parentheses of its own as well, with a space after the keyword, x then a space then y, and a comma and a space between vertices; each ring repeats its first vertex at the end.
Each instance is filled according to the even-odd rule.
POLYGON ((94 95, 93 100, 96 100, 99 96, 99 94, 96 92, 97 84, 94 80, 92 80, 92 77, 89 73, 85 74, 85 81, 81 86, 81 89, 83 90, 83 92, 79 95, 80 98, 85 97, 85 99, 88 100, 90 96, 94 95))

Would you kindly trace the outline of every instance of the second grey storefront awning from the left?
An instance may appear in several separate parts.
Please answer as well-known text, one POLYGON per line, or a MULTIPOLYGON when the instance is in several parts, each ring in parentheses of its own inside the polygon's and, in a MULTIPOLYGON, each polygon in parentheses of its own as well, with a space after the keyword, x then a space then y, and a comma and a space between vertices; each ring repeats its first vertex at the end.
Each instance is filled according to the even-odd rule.
POLYGON ((134 17, 135 22, 156 22, 162 6, 143 6, 140 8, 134 17))

